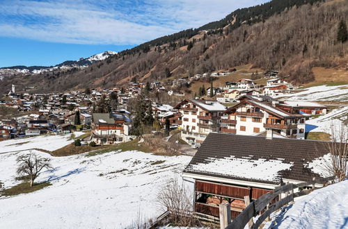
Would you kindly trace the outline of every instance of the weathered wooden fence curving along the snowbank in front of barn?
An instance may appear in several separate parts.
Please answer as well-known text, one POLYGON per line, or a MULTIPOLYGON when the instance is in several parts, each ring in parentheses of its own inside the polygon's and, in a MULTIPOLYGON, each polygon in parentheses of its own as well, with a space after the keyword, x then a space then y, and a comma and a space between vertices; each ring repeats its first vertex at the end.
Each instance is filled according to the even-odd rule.
POLYGON ((306 194, 309 194, 310 192, 315 189, 315 184, 324 184, 327 183, 329 180, 333 180, 335 176, 331 176, 329 178, 324 178, 321 180, 310 180, 306 183, 299 183, 299 184, 292 184, 287 183, 282 186, 278 186, 274 189, 273 192, 269 192, 267 194, 264 194, 260 198, 258 198, 255 201, 250 201, 249 196, 245 196, 246 205, 248 203, 248 206, 244 209, 244 211, 239 214, 237 218, 235 218, 232 223, 230 222, 230 205, 221 204, 220 205, 220 226, 221 228, 228 228, 228 229, 239 229, 244 228, 246 224, 248 223, 249 228, 258 228, 261 223, 269 218, 272 212, 275 212, 276 210, 280 209, 280 207, 283 207, 284 205, 287 205, 287 203, 293 202, 294 198, 303 196, 306 194), (294 189, 301 188, 301 187, 310 187, 311 189, 302 190, 299 192, 294 193, 294 189), (285 198, 281 198, 281 194, 285 194, 285 198), (279 196, 279 199, 276 203, 274 203, 274 199, 279 196), (273 203, 271 203, 273 201, 273 203), (260 212, 262 214, 258 218, 258 220, 253 223, 253 217, 257 216, 260 212))

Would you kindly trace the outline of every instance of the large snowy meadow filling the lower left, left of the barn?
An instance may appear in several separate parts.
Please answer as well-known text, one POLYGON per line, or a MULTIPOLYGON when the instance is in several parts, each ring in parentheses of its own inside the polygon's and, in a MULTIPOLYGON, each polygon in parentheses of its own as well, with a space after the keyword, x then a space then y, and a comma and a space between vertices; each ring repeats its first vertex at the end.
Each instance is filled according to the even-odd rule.
MULTIPOLYGON (((59 158, 37 153, 51 158, 54 169, 36 182, 49 180, 52 185, 31 194, 0 197, 0 228, 125 228, 139 216, 158 217, 159 187, 191 160, 139 151, 59 158)), ((0 154, 4 187, 19 183, 15 181, 18 155, 0 154)))

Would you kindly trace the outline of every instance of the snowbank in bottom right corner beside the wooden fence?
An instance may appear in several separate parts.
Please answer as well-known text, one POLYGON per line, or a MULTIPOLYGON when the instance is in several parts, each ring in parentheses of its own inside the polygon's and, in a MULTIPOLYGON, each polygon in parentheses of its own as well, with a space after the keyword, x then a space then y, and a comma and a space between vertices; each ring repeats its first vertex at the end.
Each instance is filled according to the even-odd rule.
POLYGON ((348 180, 318 189, 284 207, 264 228, 348 228, 348 180))

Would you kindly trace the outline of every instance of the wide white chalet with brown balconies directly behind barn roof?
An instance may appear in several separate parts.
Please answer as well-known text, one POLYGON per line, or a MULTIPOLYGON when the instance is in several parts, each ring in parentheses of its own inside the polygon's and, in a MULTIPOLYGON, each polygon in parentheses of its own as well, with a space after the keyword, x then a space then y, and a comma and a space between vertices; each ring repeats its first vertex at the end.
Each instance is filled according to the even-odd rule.
POLYGON ((268 96, 245 96, 237 105, 224 112, 221 133, 260 135, 272 130, 280 137, 304 139, 306 115, 282 110, 278 101, 268 96))

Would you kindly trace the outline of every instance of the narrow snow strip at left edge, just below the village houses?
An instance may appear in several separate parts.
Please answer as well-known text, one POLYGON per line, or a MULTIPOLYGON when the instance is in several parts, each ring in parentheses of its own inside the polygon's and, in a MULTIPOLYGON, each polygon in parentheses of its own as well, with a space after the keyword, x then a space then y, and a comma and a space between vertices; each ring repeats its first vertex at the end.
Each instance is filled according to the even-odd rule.
MULTIPOLYGON (((83 135, 83 132, 75 131, 75 137, 83 135)), ((10 151, 22 151, 26 149, 45 149, 47 151, 55 151, 61 149, 74 140, 70 139, 71 135, 40 135, 38 137, 24 137, 17 139, 9 139, 0 142, 0 153, 10 151)))

